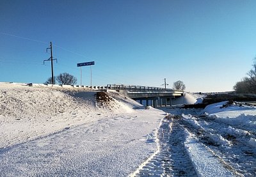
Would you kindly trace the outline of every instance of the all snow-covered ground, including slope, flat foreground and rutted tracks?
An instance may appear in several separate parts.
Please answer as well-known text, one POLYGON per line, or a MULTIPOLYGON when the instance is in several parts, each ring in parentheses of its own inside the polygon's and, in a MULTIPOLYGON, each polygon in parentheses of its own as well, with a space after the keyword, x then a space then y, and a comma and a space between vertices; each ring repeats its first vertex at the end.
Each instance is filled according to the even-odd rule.
POLYGON ((256 109, 226 104, 0 83, 0 176, 256 176, 256 109))

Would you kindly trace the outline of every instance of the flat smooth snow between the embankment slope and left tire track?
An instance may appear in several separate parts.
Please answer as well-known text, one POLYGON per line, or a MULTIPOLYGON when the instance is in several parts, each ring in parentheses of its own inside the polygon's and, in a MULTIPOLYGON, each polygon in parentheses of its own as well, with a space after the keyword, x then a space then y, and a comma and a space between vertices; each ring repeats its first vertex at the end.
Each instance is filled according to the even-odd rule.
POLYGON ((140 119, 100 119, 5 148, 0 151, 0 176, 128 176, 156 149, 142 135, 159 122, 140 119))

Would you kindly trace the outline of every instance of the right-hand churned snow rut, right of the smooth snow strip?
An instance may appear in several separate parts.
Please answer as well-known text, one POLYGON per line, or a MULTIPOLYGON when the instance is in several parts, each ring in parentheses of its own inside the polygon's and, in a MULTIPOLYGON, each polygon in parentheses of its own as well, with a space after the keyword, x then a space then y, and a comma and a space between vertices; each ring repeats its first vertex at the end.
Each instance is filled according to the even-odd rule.
POLYGON ((181 121, 184 127, 188 128, 200 142, 205 144, 209 150, 216 155, 230 171, 237 176, 255 176, 256 174, 256 151, 251 146, 248 146, 245 137, 241 138, 237 135, 229 135, 224 133, 228 128, 228 124, 216 122, 212 118, 205 116, 194 116, 201 128, 195 127, 193 123, 181 121), (231 144, 219 144, 220 141, 212 137, 223 137, 225 140, 232 142, 231 144))

